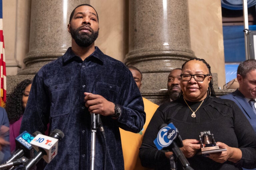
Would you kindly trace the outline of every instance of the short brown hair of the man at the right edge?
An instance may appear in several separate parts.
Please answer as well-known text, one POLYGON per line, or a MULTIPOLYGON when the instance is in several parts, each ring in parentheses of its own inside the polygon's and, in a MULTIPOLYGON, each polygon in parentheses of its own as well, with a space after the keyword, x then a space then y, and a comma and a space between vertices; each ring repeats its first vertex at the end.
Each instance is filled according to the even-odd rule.
POLYGON ((236 75, 240 74, 243 78, 245 78, 248 72, 255 69, 256 69, 255 59, 245 60, 239 64, 236 75))

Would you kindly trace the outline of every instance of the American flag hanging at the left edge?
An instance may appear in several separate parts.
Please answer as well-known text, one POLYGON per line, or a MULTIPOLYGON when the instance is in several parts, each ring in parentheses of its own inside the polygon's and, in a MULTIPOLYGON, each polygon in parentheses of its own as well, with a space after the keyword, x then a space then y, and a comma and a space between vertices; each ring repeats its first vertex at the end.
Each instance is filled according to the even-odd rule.
POLYGON ((6 102, 6 69, 4 55, 4 35, 3 35, 3 1, 0 0, 0 106, 4 107, 6 102))

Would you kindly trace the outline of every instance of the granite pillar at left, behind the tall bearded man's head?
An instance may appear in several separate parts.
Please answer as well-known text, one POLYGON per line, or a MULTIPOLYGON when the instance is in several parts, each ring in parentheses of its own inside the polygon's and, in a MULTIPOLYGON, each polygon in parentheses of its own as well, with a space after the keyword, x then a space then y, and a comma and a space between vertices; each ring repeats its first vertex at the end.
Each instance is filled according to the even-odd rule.
POLYGON ((72 10, 90 0, 32 0, 29 52, 25 68, 18 74, 36 74, 48 62, 62 56, 71 46, 67 31, 72 10))

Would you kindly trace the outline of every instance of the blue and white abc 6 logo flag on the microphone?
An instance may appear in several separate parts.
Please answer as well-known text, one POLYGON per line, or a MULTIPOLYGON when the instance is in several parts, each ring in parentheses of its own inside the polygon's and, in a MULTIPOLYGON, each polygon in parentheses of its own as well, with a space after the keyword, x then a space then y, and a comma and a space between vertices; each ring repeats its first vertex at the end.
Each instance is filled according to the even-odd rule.
POLYGON ((163 148, 168 147, 177 135, 178 130, 172 123, 161 128, 157 134, 157 138, 154 140, 157 149, 162 150, 163 148))

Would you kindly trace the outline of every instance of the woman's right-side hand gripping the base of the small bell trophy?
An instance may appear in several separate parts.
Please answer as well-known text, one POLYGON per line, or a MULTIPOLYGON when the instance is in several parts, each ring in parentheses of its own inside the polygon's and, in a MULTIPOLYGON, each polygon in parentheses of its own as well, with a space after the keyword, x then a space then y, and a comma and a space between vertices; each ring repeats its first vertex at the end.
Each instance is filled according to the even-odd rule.
POLYGON ((242 151, 238 148, 229 147, 225 143, 217 142, 219 148, 225 148, 226 151, 210 153, 208 158, 214 160, 215 162, 224 163, 227 160, 237 163, 242 158, 242 151))

